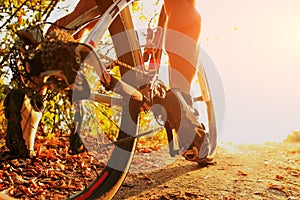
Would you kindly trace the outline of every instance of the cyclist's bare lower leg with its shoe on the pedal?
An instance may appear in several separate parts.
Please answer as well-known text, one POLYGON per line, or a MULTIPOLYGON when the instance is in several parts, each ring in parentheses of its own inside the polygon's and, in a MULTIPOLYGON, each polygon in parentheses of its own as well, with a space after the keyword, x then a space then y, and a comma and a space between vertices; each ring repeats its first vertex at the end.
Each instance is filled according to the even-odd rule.
POLYGON ((166 100, 169 102, 168 99, 175 95, 181 106, 179 114, 170 106, 169 109, 173 111, 168 115, 169 121, 178 121, 172 120, 173 116, 181 116, 180 124, 175 125, 179 145, 186 150, 186 159, 200 163, 208 155, 208 140, 204 127, 192 112, 190 86, 199 55, 201 17, 195 7, 195 0, 165 0, 165 10, 168 17, 165 45, 171 66, 170 86, 175 88, 166 100))

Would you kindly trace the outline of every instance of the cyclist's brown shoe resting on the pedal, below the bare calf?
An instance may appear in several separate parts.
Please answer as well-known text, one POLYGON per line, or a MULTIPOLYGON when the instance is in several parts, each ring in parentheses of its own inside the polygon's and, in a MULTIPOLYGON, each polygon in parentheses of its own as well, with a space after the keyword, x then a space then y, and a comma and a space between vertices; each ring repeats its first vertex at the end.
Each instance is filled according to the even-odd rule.
POLYGON ((208 133, 197 120, 199 112, 193 107, 190 95, 172 89, 166 95, 167 120, 177 131, 179 147, 186 160, 201 163, 209 154, 208 133))

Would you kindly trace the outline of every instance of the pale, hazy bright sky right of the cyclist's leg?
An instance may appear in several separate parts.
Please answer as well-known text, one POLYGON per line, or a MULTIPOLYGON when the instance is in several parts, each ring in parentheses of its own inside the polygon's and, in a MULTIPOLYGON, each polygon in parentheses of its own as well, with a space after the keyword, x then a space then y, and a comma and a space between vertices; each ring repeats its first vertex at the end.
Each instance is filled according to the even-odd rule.
POLYGON ((198 9, 201 46, 225 91, 220 140, 281 141, 300 131, 300 1, 200 0, 198 9))

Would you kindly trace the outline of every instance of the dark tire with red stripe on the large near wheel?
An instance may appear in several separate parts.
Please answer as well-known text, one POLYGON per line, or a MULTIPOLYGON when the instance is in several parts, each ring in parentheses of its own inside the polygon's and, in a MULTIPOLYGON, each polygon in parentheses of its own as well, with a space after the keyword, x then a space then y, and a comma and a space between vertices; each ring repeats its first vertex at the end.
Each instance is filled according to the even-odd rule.
MULTIPOLYGON (((96 0, 97 6, 102 13, 98 23, 101 24, 101 20, 105 21, 106 18, 109 18, 109 21, 104 23, 108 24, 108 30, 112 37, 120 33, 124 33, 127 30, 133 29, 131 15, 128 10, 128 6, 131 4, 131 2, 132 1, 125 0, 96 0)), ((91 34, 98 34, 98 31, 102 32, 102 30, 97 30, 97 28, 99 27, 95 25, 94 32, 91 32, 91 34)), ((103 29, 103 27, 100 27, 100 29, 103 29)), ((125 40, 122 41, 122 48, 125 46, 126 49, 130 49, 130 51, 125 53, 122 52, 122 50, 118 50, 118 45, 120 42, 118 41, 118 37, 112 38, 118 60, 121 62, 126 62, 128 65, 136 66, 140 63, 140 61, 139 52, 137 52, 137 50, 132 50, 136 49, 132 47, 133 43, 136 42, 135 38, 132 38, 134 36, 128 36, 127 34, 125 34, 125 36, 125 40)), ((91 40, 95 42, 94 39, 98 40, 100 38, 92 36, 90 39, 87 39, 90 40, 88 43, 91 43, 91 40)), ((124 38, 122 37, 122 39, 124 38)), ((121 68, 121 76, 124 76, 127 71, 128 69, 121 68)), ((123 79, 129 84, 134 85, 135 83, 133 81, 137 78, 133 76, 134 75, 126 76, 123 79)), ((125 142, 116 145, 117 147, 113 150, 107 166, 98 175, 97 179, 94 180, 94 182, 84 191, 81 191, 75 196, 70 197, 70 199, 111 199, 116 194, 128 173, 129 166, 133 158, 136 145, 136 137, 134 137, 134 134, 137 128, 138 113, 139 107, 136 104, 129 101, 129 105, 124 105, 120 131, 117 140, 126 139, 124 140, 125 142), (128 116, 128 114, 130 116, 128 116), (128 123, 128 121, 124 119, 127 117, 131 117, 133 123, 128 123)))

